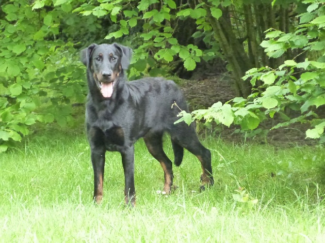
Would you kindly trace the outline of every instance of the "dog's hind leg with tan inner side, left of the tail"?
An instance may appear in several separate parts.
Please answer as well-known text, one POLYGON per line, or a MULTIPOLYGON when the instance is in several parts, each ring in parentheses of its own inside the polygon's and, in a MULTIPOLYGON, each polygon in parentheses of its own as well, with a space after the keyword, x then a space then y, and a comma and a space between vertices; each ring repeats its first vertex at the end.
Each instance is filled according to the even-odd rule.
POLYGON ((173 165, 162 149, 162 133, 149 133, 144 137, 144 140, 148 151, 162 166, 165 181, 163 191, 169 194, 173 186, 173 165))

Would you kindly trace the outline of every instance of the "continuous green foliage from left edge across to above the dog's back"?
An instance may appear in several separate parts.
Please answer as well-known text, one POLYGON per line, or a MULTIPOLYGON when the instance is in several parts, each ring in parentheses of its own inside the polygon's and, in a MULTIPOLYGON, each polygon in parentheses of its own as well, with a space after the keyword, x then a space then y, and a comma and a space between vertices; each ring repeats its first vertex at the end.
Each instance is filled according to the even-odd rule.
MULTIPOLYGON (((218 4, 213 3, 215 17, 221 15, 218 4)), ((175 34, 179 21, 193 18, 198 30, 194 37, 213 43, 203 5, 190 7, 174 0, 12 0, 2 4, 0 151, 20 141, 34 122, 64 126, 73 121, 71 103, 83 102, 85 94, 84 67, 75 47, 100 43, 105 35, 110 42, 129 44, 135 50, 131 79, 165 75, 168 63, 182 61, 187 70, 194 70, 201 59, 211 60, 218 49, 215 44, 202 51, 194 44, 179 44, 175 34)))

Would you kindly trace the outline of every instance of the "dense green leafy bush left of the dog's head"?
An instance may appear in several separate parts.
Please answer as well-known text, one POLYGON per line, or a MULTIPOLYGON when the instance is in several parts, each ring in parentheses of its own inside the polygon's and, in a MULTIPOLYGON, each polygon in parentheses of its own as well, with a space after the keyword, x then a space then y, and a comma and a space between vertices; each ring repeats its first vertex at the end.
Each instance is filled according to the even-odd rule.
POLYGON ((0 152, 29 134, 36 121, 71 123, 71 101, 84 101, 84 69, 76 50, 56 38, 67 5, 51 11, 44 6, 51 3, 13 0, 1 6, 0 152))

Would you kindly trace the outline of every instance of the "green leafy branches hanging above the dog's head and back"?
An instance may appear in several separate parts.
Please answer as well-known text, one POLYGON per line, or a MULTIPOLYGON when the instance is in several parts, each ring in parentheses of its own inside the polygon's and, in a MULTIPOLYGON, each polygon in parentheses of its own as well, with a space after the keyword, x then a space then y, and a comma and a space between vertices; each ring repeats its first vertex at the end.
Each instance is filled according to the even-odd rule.
MULTIPOLYGON (((135 46, 136 42, 141 44, 134 48, 130 67, 131 78, 143 76, 148 69, 150 69, 150 76, 164 75, 165 70, 157 68, 157 65, 164 66, 176 60, 181 60, 185 69, 191 71, 195 69, 196 63, 200 62, 201 58, 208 60, 211 56, 215 56, 212 49, 203 52, 193 44, 180 45, 175 37, 178 21, 188 18, 197 20, 198 30, 211 30, 211 26, 205 20, 207 13, 202 4, 190 8, 187 4, 178 6, 174 0, 163 0, 157 5, 158 2, 160 1, 134 1, 130 7, 127 0, 89 1, 73 12, 86 16, 109 16, 114 31, 110 31, 105 39, 110 41, 122 39, 133 33, 133 29, 137 30, 141 26, 143 31, 133 35, 135 39, 132 41, 132 46, 135 46)), ((213 9, 214 15, 220 16, 221 10, 217 7, 213 9)), ((198 36, 197 33, 196 37, 198 36)))

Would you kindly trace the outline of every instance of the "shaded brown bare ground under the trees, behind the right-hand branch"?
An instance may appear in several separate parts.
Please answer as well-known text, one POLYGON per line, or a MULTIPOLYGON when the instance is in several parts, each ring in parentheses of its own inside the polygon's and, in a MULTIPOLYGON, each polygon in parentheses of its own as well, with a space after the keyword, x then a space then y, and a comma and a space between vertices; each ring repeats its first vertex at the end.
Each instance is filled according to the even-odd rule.
MULTIPOLYGON (((191 110, 210 107, 212 104, 221 101, 223 104, 236 97, 232 80, 227 76, 211 76, 204 80, 186 80, 182 85, 182 90, 188 100, 191 110)), ((211 133, 223 139, 231 141, 253 140, 259 143, 270 143, 279 146, 311 145, 315 144, 314 139, 305 139, 307 124, 295 123, 290 127, 269 130, 279 119, 269 119, 260 124, 258 130, 241 133, 239 126, 213 124, 211 133)))

